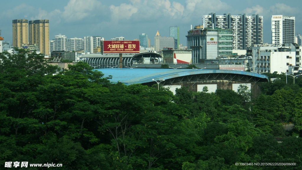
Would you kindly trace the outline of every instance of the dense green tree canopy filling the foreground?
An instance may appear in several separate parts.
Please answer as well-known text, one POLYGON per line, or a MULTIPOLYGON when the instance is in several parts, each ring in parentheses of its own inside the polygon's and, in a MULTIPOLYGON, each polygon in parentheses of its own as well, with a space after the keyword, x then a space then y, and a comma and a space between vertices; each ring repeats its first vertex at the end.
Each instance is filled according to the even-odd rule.
POLYGON ((8 161, 62 170, 302 168, 301 78, 286 84, 284 74, 267 74, 279 79, 259 83, 251 100, 246 86, 173 95, 157 84, 112 84, 82 62, 54 74, 60 68, 23 49, 0 60, 0 169, 8 161), (275 162, 296 165, 236 165, 275 162))

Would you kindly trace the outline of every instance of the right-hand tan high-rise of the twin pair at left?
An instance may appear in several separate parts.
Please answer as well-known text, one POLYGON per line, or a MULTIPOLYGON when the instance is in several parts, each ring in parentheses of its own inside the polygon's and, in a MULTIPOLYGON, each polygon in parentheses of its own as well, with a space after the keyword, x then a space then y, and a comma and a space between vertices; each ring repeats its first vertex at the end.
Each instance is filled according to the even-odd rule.
POLYGON ((44 55, 49 54, 49 20, 28 22, 29 44, 37 44, 38 50, 44 55))

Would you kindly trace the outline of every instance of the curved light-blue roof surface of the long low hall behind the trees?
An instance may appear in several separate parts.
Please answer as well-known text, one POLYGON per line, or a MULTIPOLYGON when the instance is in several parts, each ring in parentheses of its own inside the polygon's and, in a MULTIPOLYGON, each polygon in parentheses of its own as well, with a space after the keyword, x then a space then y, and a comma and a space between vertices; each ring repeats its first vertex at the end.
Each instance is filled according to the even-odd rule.
POLYGON ((111 82, 121 82, 125 85, 148 83, 154 80, 168 80, 171 78, 190 76, 197 74, 240 74, 257 77, 262 81, 268 81, 268 77, 258 73, 236 70, 194 70, 194 69, 140 69, 140 68, 106 68, 96 69, 104 73, 104 77, 112 76, 111 82))

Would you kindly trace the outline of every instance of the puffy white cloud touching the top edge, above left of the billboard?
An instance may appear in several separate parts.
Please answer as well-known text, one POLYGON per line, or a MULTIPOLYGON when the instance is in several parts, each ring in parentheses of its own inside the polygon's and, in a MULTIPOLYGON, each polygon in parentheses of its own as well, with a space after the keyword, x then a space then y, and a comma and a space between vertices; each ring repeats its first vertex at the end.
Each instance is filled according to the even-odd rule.
POLYGON ((88 16, 95 16, 95 11, 100 8, 101 2, 96 0, 70 0, 64 7, 62 17, 66 21, 79 21, 88 16))

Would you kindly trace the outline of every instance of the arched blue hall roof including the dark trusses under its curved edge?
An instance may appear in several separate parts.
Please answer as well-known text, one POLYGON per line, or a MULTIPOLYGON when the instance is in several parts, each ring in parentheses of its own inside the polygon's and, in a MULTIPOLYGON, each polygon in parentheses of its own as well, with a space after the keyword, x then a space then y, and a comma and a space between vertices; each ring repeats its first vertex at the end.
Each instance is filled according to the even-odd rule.
MULTIPOLYGON (((111 82, 121 82, 125 85, 149 83, 154 80, 173 80, 182 77, 182 81, 193 80, 189 77, 197 77, 196 80, 232 80, 244 82, 268 82, 268 77, 262 74, 236 70, 194 70, 194 69, 139 69, 139 68, 109 68, 96 69, 104 73, 105 77, 112 76, 111 82), (198 78, 199 77, 199 78, 198 78), (204 78, 205 77, 205 78, 204 78)), ((165 81, 167 82, 167 81, 165 81)), ((168 83, 168 82, 167 82, 168 83)), ((169 84, 169 83, 168 83, 169 84)))

